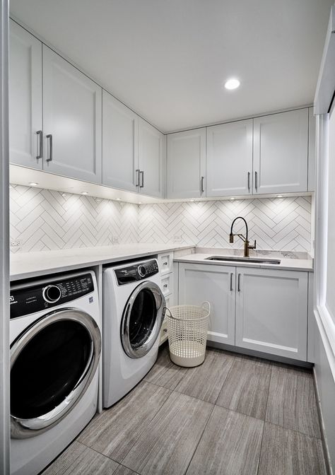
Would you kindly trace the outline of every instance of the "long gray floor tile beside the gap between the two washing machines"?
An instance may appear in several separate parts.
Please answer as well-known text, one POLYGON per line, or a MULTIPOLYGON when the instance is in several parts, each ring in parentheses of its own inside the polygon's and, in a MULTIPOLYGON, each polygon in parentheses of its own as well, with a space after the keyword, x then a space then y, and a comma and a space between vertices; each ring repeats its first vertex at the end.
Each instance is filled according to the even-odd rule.
POLYGON ((171 392, 141 382, 119 403, 103 411, 78 437, 79 442, 121 462, 171 392))

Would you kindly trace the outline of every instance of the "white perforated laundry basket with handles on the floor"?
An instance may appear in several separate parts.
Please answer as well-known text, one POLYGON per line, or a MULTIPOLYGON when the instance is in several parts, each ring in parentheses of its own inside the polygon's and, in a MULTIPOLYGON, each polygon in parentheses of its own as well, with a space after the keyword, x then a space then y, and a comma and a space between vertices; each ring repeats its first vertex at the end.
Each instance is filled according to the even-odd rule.
POLYGON ((209 302, 201 307, 176 305, 166 309, 170 358, 176 365, 192 368, 204 363, 206 353, 209 302))

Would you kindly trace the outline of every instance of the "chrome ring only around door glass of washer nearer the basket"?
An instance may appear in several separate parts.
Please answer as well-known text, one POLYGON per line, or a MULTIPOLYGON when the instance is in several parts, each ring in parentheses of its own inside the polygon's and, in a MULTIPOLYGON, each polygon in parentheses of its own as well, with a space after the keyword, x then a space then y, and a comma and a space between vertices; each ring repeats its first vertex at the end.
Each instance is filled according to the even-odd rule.
POLYGON ((122 322, 121 322, 121 341, 122 346, 124 348, 125 353, 130 358, 141 358, 145 356, 155 344, 155 341, 158 339, 160 334, 160 328, 163 324, 163 309, 165 307, 165 297, 163 292, 160 290, 160 287, 155 282, 151 281, 143 281, 142 283, 137 286, 134 291, 131 293, 126 306, 124 307, 124 312, 122 315, 122 322), (135 299, 137 295, 144 289, 147 289, 153 293, 153 297, 155 298, 155 310, 156 310, 156 317, 155 317, 155 324, 153 327, 153 331, 151 335, 148 337, 146 342, 139 346, 139 348, 134 348, 130 343, 130 336, 129 336, 129 319, 131 315, 131 310, 133 308, 135 299))

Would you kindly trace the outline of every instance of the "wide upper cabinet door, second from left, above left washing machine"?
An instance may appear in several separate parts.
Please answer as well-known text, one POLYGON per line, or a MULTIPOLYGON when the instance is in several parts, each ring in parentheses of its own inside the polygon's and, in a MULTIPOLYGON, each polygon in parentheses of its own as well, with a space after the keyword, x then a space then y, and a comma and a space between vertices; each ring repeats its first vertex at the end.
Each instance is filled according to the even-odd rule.
POLYGON ((44 170, 101 183, 101 95, 100 86, 43 45, 43 129, 52 135, 52 146, 45 138, 44 170))

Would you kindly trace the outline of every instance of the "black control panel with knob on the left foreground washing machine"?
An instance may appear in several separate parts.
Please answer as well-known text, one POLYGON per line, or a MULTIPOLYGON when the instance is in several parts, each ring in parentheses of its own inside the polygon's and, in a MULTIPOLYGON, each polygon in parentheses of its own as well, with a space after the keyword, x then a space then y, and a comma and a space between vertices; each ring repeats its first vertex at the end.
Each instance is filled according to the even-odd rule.
POLYGON ((71 302, 94 291, 91 274, 11 289, 11 319, 71 302))

